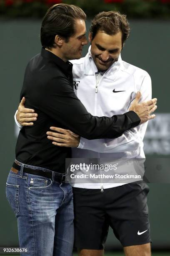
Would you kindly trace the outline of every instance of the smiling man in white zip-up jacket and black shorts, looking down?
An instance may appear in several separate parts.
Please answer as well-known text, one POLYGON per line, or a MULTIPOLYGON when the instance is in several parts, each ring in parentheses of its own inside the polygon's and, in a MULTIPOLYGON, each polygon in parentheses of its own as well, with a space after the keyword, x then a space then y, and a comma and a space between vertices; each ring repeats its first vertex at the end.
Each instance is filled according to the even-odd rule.
MULTIPOLYGON (((149 74, 122 61, 120 56, 129 32, 125 15, 115 11, 99 13, 92 20, 87 55, 72 61, 75 93, 92 115, 110 117, 127 112, 138 91, 142 101, 151 99, 149 74)), ((37 114, 31 114, 23 103, 24 100, 18 108, 17 120, 21 125, 32 125, 37 114)), ((104 159, 103 163, 107 164, 110 159, 145 158, 146 128, 147 123, 144 123, 115 139, 87 140, 71 131, 52 127, 47 136, 56 146, 71 146, 72 158, 104 159)), ((103 255, 109 226, 126 256, 151 255, 147 184, 124 179, 121 183, 72 186, 75 245, 80 256, 103 255)))

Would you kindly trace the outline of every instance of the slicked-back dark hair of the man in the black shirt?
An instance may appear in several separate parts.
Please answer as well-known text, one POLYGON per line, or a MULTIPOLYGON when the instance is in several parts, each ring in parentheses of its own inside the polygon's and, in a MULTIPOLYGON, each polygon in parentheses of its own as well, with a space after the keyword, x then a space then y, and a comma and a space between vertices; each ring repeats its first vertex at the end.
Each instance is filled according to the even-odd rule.
POLYGON ((62 36, 66 42, 75 34, 75 19, 86 20, 86 14, 75 5, 57 4, 47 10, 41 26, 40 38, 44 48, 54 48, 55 36, 62 36))

